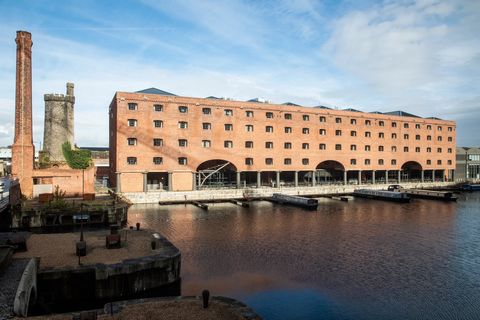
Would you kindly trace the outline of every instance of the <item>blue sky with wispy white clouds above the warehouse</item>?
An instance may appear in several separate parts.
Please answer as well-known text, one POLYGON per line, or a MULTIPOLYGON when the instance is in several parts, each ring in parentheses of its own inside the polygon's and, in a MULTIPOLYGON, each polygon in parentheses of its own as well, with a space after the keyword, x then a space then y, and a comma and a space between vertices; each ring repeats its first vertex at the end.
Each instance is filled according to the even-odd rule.
POLYGON ((75 84, 78 146, 108 146, 116 91, 156 87, 457 122, 480 146, 479 0, 0 0, 0 146, 13 143, 15 36, 32 33, 34 144, 75 84), (476 134, 477 132, 477 134, 476 134))

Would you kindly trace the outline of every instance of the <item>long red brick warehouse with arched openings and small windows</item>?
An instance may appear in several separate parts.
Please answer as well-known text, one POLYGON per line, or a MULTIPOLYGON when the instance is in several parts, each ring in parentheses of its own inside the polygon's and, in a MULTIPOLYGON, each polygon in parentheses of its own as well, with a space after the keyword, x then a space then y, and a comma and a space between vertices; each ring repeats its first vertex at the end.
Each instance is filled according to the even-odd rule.
POLYGON ((120 192, 453 179, 456 124, 405 112, 181 97, 155 88, 110 104, 120 192))

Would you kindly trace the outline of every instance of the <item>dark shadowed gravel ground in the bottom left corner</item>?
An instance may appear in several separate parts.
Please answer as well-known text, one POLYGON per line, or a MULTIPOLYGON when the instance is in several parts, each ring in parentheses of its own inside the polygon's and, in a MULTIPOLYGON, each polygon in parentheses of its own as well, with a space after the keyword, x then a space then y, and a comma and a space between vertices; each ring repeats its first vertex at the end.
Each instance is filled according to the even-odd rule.
POLYGON ((13 316, 13 300, 18 283, 30 259, 12 259, 12 263, 0 273, 0 319, 13 316))

